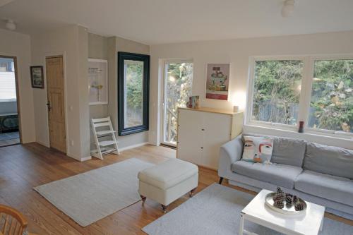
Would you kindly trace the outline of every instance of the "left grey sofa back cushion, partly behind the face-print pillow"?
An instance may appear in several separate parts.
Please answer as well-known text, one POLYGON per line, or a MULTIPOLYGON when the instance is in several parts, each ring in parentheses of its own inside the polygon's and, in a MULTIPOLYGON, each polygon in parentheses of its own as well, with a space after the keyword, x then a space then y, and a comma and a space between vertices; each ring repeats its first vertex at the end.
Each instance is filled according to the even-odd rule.
POLYGON ((244 133, 243 136, 269 136, 273 138, 273 152, 271 162, 302 167, 306 150, 306 141, 271 135, 244 133))

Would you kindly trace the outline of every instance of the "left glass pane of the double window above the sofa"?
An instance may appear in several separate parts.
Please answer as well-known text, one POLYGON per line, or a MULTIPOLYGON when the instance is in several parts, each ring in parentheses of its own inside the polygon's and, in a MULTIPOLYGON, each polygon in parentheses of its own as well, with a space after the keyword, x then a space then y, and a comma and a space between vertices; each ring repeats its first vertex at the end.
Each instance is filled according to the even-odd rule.
POLYGON ((256 61, 251 119, 296 125, 303 61, 256 61))

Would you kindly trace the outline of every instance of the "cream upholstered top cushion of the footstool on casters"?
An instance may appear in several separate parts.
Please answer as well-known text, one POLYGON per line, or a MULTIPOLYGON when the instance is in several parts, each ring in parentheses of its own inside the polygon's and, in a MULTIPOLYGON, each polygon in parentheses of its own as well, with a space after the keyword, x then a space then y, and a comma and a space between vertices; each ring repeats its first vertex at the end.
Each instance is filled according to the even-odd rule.
POLYGON ((138 179, 160 189, 176 186, 178 183, 198 174, 196 164, 182 161, 181 159, 169 159, 161 164, 138 172, 138 179))

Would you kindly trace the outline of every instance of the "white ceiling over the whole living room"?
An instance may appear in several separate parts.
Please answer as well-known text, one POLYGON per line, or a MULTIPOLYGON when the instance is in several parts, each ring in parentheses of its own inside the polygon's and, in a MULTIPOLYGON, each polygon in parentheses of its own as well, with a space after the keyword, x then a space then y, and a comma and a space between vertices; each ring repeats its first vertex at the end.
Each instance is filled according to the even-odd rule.
POLYGON ((29 34, 78 24, 145 44, 353 30, 353 0, 296 0, 289 18, 283 1, 0 0, 0 18, 29 34))

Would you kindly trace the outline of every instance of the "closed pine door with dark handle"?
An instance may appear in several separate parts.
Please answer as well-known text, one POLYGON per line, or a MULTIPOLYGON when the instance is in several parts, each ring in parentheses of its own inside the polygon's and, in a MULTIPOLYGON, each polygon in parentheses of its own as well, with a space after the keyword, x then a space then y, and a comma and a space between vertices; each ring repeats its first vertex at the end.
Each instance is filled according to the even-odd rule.
POLYGON ((47 57, 45 64, 50 147, 66 152, 63 57, 47 57))

